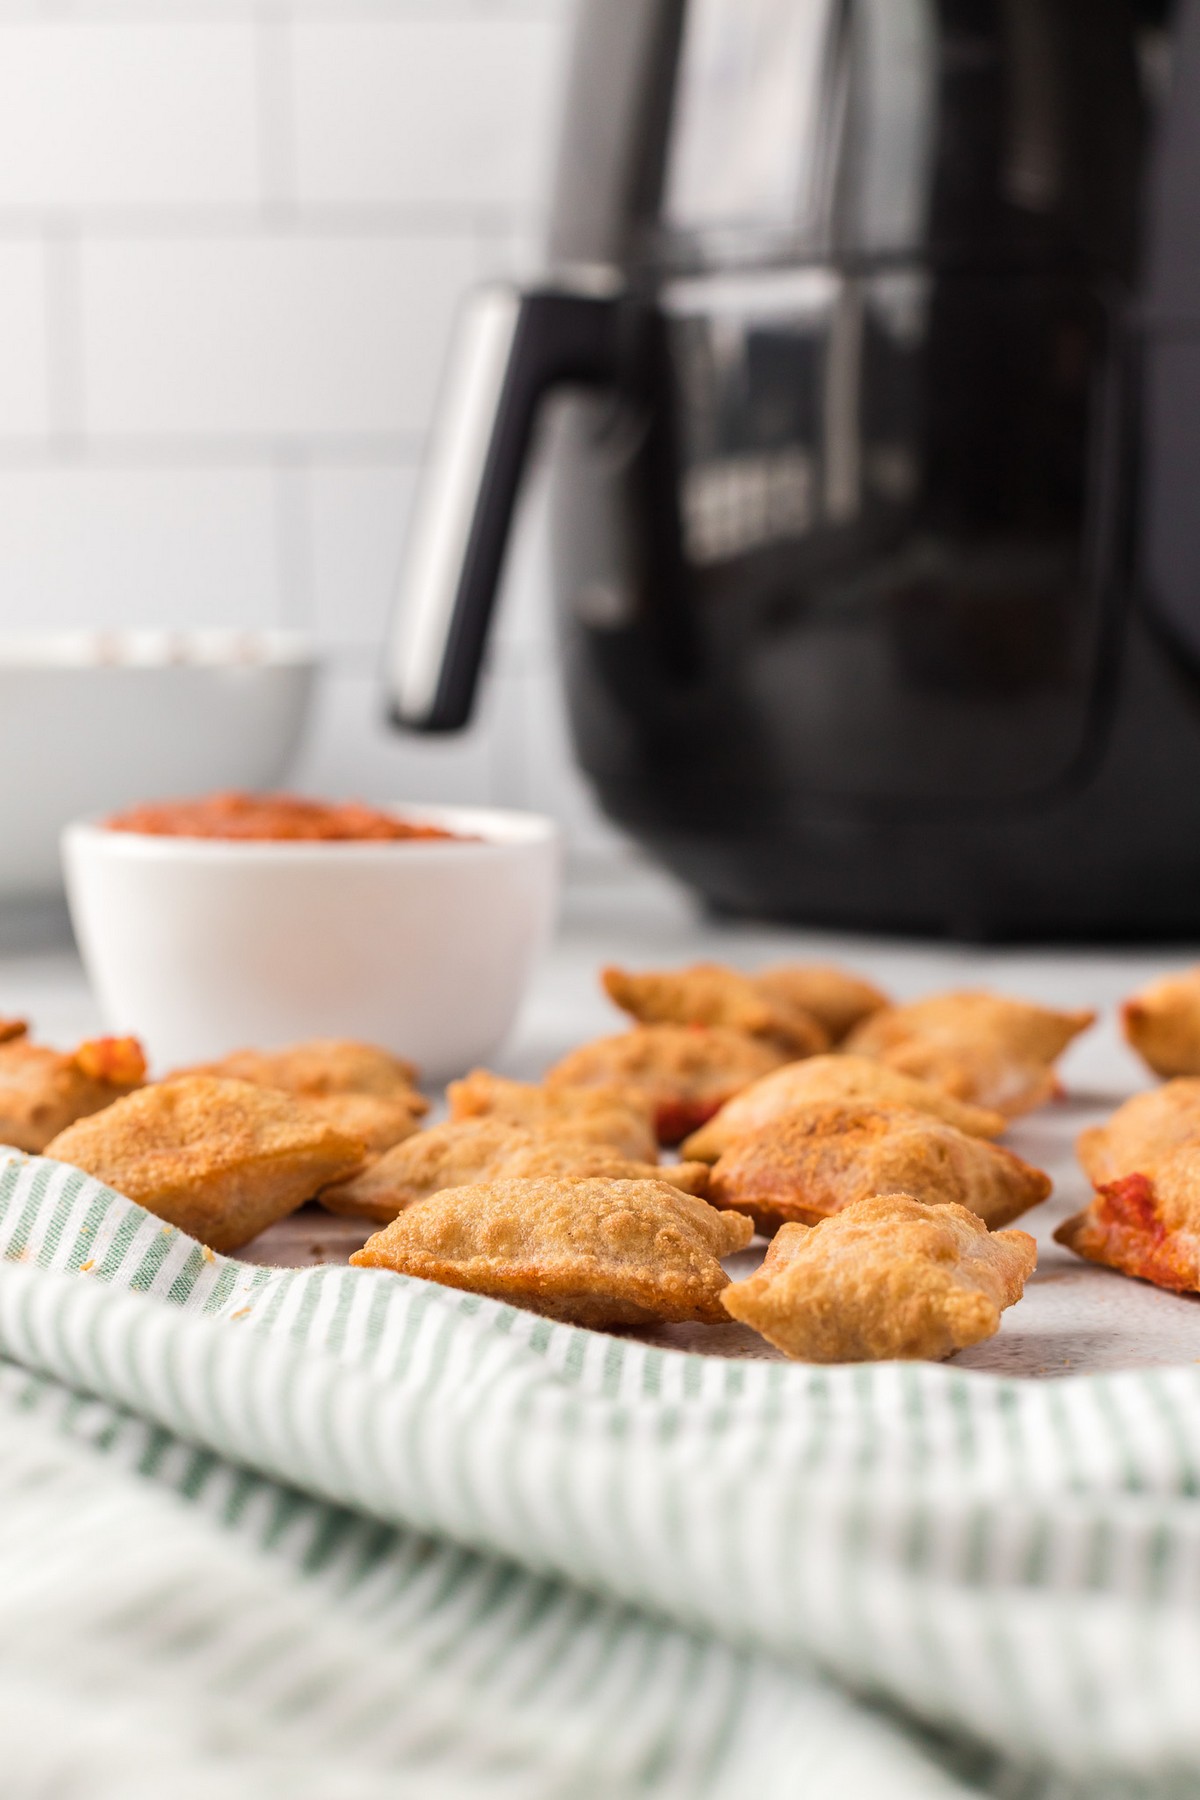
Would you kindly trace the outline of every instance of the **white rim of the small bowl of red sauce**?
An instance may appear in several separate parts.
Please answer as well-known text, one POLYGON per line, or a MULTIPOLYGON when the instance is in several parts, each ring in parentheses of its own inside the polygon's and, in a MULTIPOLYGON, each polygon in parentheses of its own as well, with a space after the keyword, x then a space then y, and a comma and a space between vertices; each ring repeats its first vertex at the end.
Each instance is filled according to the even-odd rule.
POLYGON ((430 806, 408 801, 376 801, 383 812, 396 812, 417 824, 441 824, 468 833, 464 839, 237 839, 167 837, 151 832, 112 832, 103 819, 72 819, 63 826, 61 848, 79 846, 131 862, 479 862, 513 851, 556 848, 561 826, 542 812, 509 806, 430 806))

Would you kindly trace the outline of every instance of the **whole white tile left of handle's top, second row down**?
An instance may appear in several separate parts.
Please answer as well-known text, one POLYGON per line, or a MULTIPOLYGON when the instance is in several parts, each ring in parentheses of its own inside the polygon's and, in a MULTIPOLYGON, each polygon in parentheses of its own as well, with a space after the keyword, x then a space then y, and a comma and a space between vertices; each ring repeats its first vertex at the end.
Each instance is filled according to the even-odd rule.
POLYGON ((466 234, 83 241, 81 428, 416 446, 473 272, 466 234))

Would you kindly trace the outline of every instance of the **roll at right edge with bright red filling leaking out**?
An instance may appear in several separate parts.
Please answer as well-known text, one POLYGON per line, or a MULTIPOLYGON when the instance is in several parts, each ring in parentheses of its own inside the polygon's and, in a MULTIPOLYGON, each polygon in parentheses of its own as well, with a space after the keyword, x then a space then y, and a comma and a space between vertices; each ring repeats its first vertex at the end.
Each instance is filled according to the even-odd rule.
POLYGON ((1054 1238, 1087 1262, 1180 1294, 1200 1292, 1200 1150, 1105 1183, 1054 1238))

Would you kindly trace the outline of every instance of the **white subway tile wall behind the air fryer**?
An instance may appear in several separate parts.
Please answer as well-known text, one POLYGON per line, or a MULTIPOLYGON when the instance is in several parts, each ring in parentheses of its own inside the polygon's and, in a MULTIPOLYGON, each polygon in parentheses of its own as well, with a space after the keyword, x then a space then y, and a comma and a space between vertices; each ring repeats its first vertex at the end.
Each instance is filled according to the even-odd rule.
POLYGON ((398 736, 376 680, 455 306, 538 265, 570 5, 5 0, 0 630, 311 630, 299 781, 613 844, 536 497, 471 731, 398 736))

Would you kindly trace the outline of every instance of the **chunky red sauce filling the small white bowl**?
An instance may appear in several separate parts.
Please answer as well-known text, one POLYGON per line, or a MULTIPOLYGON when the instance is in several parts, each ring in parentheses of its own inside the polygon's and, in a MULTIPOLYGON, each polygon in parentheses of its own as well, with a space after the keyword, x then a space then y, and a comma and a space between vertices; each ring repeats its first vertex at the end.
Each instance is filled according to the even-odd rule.
POLYGON ((104 821, 110 832, 146 837, 218 837, 246 842, 470 842, 437 824, 398 819, 360 801, 335 805, 297 794, 207 794, 203 799, 151 801, 104 821))

